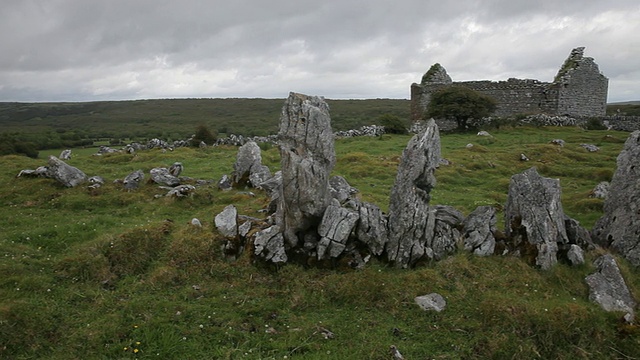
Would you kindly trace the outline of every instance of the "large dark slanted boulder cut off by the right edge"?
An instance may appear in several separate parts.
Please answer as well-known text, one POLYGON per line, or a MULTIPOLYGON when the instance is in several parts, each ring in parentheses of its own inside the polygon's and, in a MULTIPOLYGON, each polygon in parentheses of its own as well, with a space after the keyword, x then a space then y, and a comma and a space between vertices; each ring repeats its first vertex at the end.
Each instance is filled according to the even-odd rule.
POLYGON ((604 216, 592 229, 594 241, 640 266, 640 131, 634 131, 618 155, 616 172, 604 202, 604 216))

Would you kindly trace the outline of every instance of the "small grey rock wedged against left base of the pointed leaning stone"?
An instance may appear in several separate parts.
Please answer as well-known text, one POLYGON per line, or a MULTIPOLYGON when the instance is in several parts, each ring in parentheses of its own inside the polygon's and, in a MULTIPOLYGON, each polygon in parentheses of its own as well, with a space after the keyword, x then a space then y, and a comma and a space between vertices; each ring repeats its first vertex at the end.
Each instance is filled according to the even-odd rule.
POLYGON ((356 237, 365 243, 374 255, 381 255, 389 240, 389 219, 377 205, 367 202, 358 207, 360 221, 356 237))

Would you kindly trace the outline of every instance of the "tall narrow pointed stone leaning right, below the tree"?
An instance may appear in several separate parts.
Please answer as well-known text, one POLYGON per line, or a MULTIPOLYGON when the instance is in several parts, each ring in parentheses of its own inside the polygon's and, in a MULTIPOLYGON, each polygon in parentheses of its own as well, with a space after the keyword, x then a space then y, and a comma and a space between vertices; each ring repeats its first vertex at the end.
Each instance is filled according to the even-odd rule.
POLYGON ((389 202, 389 261, 407 267, 425 254, 433 241, 435 211, 429 206, 436 184, 434 171, 440 160, 440 136, 429 120, 402 153, 389 202))

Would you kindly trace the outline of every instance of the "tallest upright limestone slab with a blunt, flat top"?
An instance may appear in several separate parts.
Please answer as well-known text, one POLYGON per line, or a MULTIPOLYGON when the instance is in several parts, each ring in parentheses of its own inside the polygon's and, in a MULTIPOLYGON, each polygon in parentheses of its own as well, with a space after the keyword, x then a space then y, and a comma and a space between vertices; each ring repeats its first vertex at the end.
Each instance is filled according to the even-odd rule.
POLYGON ((276 223, 290 247, 315 231, 331 199, 336 159, 329 106, 321 97, 290 93, 280 116, 282 193, 276 223))

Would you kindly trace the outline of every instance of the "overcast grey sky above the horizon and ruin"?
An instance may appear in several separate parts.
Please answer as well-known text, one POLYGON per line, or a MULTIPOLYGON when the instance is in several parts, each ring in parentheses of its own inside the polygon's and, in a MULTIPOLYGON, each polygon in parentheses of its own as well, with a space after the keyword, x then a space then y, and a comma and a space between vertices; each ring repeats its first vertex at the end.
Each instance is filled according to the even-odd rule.
POLYGON ((3 0, 0 101, 409 99, 453 81, 551 82, 584 46, 640 100, 638 0, 3 0))

